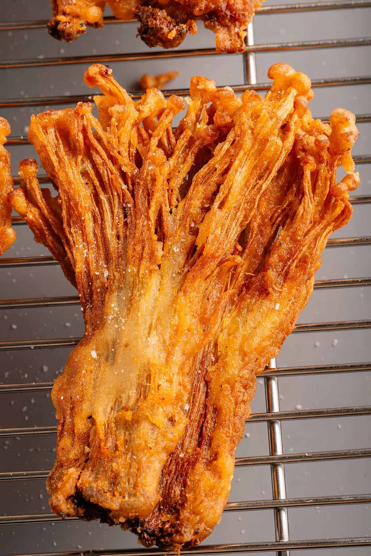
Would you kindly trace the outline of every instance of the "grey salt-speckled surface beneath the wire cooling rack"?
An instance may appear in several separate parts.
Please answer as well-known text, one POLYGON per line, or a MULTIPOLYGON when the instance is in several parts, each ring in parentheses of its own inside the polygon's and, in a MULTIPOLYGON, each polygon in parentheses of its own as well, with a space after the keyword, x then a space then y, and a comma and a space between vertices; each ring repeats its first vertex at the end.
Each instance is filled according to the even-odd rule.
MULTIPOLYGON (((268 3, 279 3, 278 0, 268 3)), ((287 2, 285 2, 287 3, 287 2)), ((3 21, 50 17, 47 0, 13 0, 1 2, 3 21)), ((327 11, 322 13, 287 13, 254 19, 255 42, 301 41, 321 38, 367 36, 370 30, 370 9, 327 11)), ((104 29, 88 29, 78 41, 66 44, 48 36, 45 29, 0 33, 2 59, 42 58, 146 51, 135 39, 136 24, 117 24, 104 29)), ((188 37, 182 48, 212 47, 214 36, 202 24, 196 37, 188 37)), ((256 55, 258 81, 266 81, 272 63, 285 61, 311 78, 368 75, 370 47, 283 51, 256 55)), ((2 69, 0 97, 52 96, 86 93, 82 81, 87 64, 28 69, 2 69)), ((217 85, 243 83, 241 55, 177 58, 170 61, 117 62, 111 67, 117 80, 128 90, 137 88, 138 78, 145 71, 158 73, 178 69, 180 76, 174 87, 187 87, 192 75, 213 78, 217 85)), ((327 87, 315 90, 312 111, 315 116, 329 115, 342 106, 355 113, 371 112, 370 86, 327 87)), ((12 126, 12 135, 25 135, 29 116, 45 108, 4 108, 1 115, 12 126)), ((359 125, 360 138, 354 153, 367 154, 370 148, 370 123, 359 125)), ((13 174, 18 162, 34 156, 30 146, 10 146, 13 174)), ((357 168, 361 173, 359 195, 371 193, 370 165, 357 168)), ((355 206, 350 224, 337 232, 338 237, 369 235, 370 206, 355 206)), ((37 245, 27 227, 17 227, 17 241, 7 256, 47 255, 37 245)), ((318 279, 371 275, 371 247, 328 249, 318 279)), ((75 295, 59 267, 1 269, 2 299, 75 295)), ((315 291, 300 322, 336 321, 370 317, 371 289, 352 288, 315 291)), ((1 340, 23 340, 47 337, 78 336, 83 332, 80 307, 55 309, 2 310, 1 340)), ((353 363, 371 360, 371 333, 342 331, 332 334, 297 334, 290 336, 278 357, 279 366, 321 363, 353 363), (337 340, 337 341, 336 341, 337 340)), ((0 382, 19 383, 53 380, 63 369, 68 349, 0 352, 0 382)), ((323 376, 298 376, 279 379, 280 403, 283 410, 295 407, 326 408, 370 403, 371 374, 355 373, 323 376)), ((0 427, 55 424, 50 396, 45 393, 1 394, 0 427)), ((253 401, 253 412, 265 410, 263 379, 253 401)), ((337 419, 283 422, 284 452, 360 448, 370 445, 369 416, 337 419)), ((0 440, 0 471, 49 469, 53 465, 55 437, 33 436, 0 440)), ((265 423, 248 423, 238 456, 269 453, 265 423)), ((355 459, 323 463, 286 465, 288 497, 311 495, 358 494, 371 491, 370 460, 355 459)), ((238 468, 233 479, 230 500, 271 498, 268 466, 238 468)), ((0 515, 48 513, 48 496, 43 480, 0 483, 0 515)), ((298 508, 289 510, 292 539, 352 537, 371 535, 371 507, 367 504, 339 507, 298 508)), ((274 539, 273 512, 229 512, 222 517, 209 543, 238 543, 274 539)), ((70 522, 32 525, 3 525, 0 528, 0 554, 60 552, 66 550, 118 549, 137 547, 136 537, 118 528, 98 523, 70 522)), ((369 548, 329 549, 310 551, 327 556, 365 556, 369 548)), ((309 551, 299 550, 303 556, 309 551)))

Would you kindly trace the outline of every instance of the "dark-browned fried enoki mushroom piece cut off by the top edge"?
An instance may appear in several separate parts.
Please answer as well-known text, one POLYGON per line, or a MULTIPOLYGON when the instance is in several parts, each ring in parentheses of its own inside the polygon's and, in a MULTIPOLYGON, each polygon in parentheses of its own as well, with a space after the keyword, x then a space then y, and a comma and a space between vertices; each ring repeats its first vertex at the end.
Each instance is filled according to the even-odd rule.
MULTIPOLYGON (((53 17, 49 33, 73 41, 86 26, 103 27, 102 0, 51 0, 53 17)), ((140 22, 138 34, 150 47, 176 48, 189 32, 197 32, 196 20, 216 33, 218 52, 243 52, 246 28, 260 0, 107 0, 113 15, 140 22)))

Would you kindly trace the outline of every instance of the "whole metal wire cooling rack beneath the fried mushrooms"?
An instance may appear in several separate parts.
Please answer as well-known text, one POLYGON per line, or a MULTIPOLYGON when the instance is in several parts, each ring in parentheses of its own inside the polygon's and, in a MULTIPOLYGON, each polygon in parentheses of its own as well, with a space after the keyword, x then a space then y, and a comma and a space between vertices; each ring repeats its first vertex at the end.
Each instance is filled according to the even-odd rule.
MULTIPOLYGON (((325 2, 306 2, 282 4, 279 6, 263 6, 258 8, 256 15, 269 15, 273 13, 285 12, 312 12, 325 10, 338 10, 353 8, 369 8, 371 0, 350 0, 350 1, 325 1, 325 2)), ((12 31, 16 29, 38 29, 46 25, 46 21, 18 21, 0 23, 0 31, 12 31)), ((105 24, 125 25, 125 22, 116 20, 115 18, 106 17, 105 24)), ((300 42, 284 42, 284 43, 264 43, 255 44, 253 23, 250 23, 248 29, 248 37, 246 37, 246 51, 241 56, 244 57, 244 83, 243 85, 233 86, 235 92, 242 92, 246 86, 256 91, 265 91, 270 87, 270 83, 258 83, 256 77, 256 52, 267 51, 284 51, 293 49, 312 49, 312 48, 339 48, 349 46, 365 46, 371 45, 371 37, 347 38, 347 39, 325 39, 317 41, 300 41, 300 42)), ((214 56, 216 51, 213 48, 201 48, 192 50, 177 51, 159 51, 145 53, 123 53, 112 55, 96 55, 96 56, 73 56, 63 58, 33 58, 19 59, 12 61, 0 61, 0 69, 8 68, 28 68, 35 66, 59 66, 65 64, 92 63, 92 62, 125 62, 133 60, 149 60, 156 58, 175 58, 175 57, 193 57, 193 56, 214 56)), ((329 77, 325 79, 312 80, 313 87, 339 87, 345 85, 364 85, 371 83, 371 75, 354 76, 354 77, 329 77)), ((166 90, 165 96, 173 93, 178 95, 186 95, 187 90, 166 90)), ((131 93, 133 98, 140 98, 140 92, 131 93)), ((76 103, 81 100, 88 100, 86 95, 75 96, 52 96, 52 97, 35 97, 35 98, 15 98, 11 100, 0 100, 0 108, 2 107, 29 107, 29 106, 46 106, 76 103)), ((323 117, 326 121, 327 118, 323 117)), ((357 122, 371 122, 371 113, 357 115, 357 122)), ((27 143, 27 138, 23 136, 11 136, 8 139, 9 145, 23 145, 27 143)), ((371 155, 354 156, 357 164, 366 164, 371 162, 371 155)), ((14 176, 14 183, 21 182, 18 176, 14 176)), ((48 182, 48 177, 40 175, 39 180, 48 182)), ((351 197, 352 203, 365 204, 371 202, 371 195, 360 195, 351 197)), ((13 217, 13 225, 22 225, 23 221, 19 217, 13 217)), ((349 247, 371 245, 371 236, 347 237, 345 239, 330 239, 327 247, 349 247)), ((0 269, 8 267, 31 267, 42 265, 57 265, 58 263, 52 257, 21 257, 21 258, 3 258, 0 260, 0 269)), ((334 280, 318 280, 315 282, 315 289, 325 288, 347 288, 355 286, 370 286, 371 277, 344 278, 334 280)), ((20 307, 56 307, 79 305, 78 296, 64 297, 44 297, 36 299, 11 299, 0 300, 0 309, 18 309, 20 307)), ((308 324, 298 324, 294 333, 313 332, 313 331, 334 331, 334 330, 354 330, 354 329, 370 329, 371 320, 355 320, 355 321, 339 321, 339 322, 315 322, 308 324)), ((71 347, 77 344, 80 338, 60 338, 45 340, 23 340, 23 341, 3 341, 0 342, 0 350, 28 350, 30 348, 42 349, 51 347, 71 347)), ((271 500, 253 500, 246 502, 228 502, 225 511, 231 510, 257 510, 257 509, 273 509, 276 541, 275 542, 259 542, 259 543, 238 543, 238 544, 218 544, 218 545, 201 545, 194 549, 185 550, 184 554, 217 554, 217 553, 241 553, 241 552, 274 552, 279 556, 288 556, 290 550, 309 549, 309 548, 341 548, 341 547, 365 547, 371 546, 371 537, 352 537, 352 538, 333 538, 333 539, 313 539, 313 540, 290 540, 289 537, 289 519, 288 508, 292 507, 308 507, 320 505, 336 505, 336 504, 356 504, 371 502, 371 494, 346 495, 346 496, 325 496, 310 498, 286 498, 285 487, 285 469, 284 464, 308 462, 308 461, 324 461, 339 460, 348 458, 364 458, 371 456, 371 448, 360 448, 352 450, 335 450, 306 452, 302 454, 284 454, 283 442, 281 436, 281 420, 286 419, 311 419, 311 418, 329 418, 345 415, 370 415, 371 406, 355 406, 342 408, 324 408, 316 410, 295 410, 281 411, 280 400, 278 395, 278 380, 280 376, 291 375, 307 375, 307 374, 330 374, 330 373, 354 373, 359 371, 370 371, 371 363, 357 364, 340 364, 340 365, 315 365, 315 366, 296 366, 277 368, 275 360, 271 360, 269 369, 263 373, 265 381, 266 395, 266 412, 251 415, 251 421, 266 421, 268 423, 269 435, 269 456, 253 456, 248 458, 236 458, 236 466, 247 465, 270 465, 272 479, 272 499, 271 500)), ((26 384, 2 384, 0 385, 1 393, 21 393, 50 391, 51 382, 38 382, 26 384)), ((47 435, 55 434, 55 426, 36 426, 12 429, 0 429, 0 438, 6 436, 28 436, 28 435, 47 435)), ((46 478, 48 470, 36 471, 8 471, 0 473, 0 481, 12 481, 19 479, 43 479, 46 478)), ((31 514, 31 515, 5 515, 0 517, 0 525, 3 524, 30 524, 30 523, 46 523, 55 522, 56 516, 53 514, 31 514)), ((66 521, 75 518, 67 518, 66 521)), ((162 550, 145 550, 145 549, 121 549, 121 550, 90 550, 91 555, 100 556, 107 554, 110 556, 147 556, 149 554, 165 554, 162 550)), ((42 556, 69 556, 78 553, 44 553, 42 556)))

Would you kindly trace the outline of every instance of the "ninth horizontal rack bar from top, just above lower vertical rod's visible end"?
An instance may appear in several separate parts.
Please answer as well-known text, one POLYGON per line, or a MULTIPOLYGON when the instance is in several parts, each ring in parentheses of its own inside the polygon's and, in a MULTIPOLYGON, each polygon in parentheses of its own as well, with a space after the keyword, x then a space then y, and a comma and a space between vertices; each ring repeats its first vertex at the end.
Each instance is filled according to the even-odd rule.
MULTIPOLYGON (((295 332, 325 332, 336 330, 367 330, 371 328, 371 320, 344 320, 335 322, 309 322, 296 324, 295 332)), ((13 340, 0 342, 0 350, 49 349, 51 347, 72 347, 78 344, 81 337, 55 338, 45 340, 13 340)))

